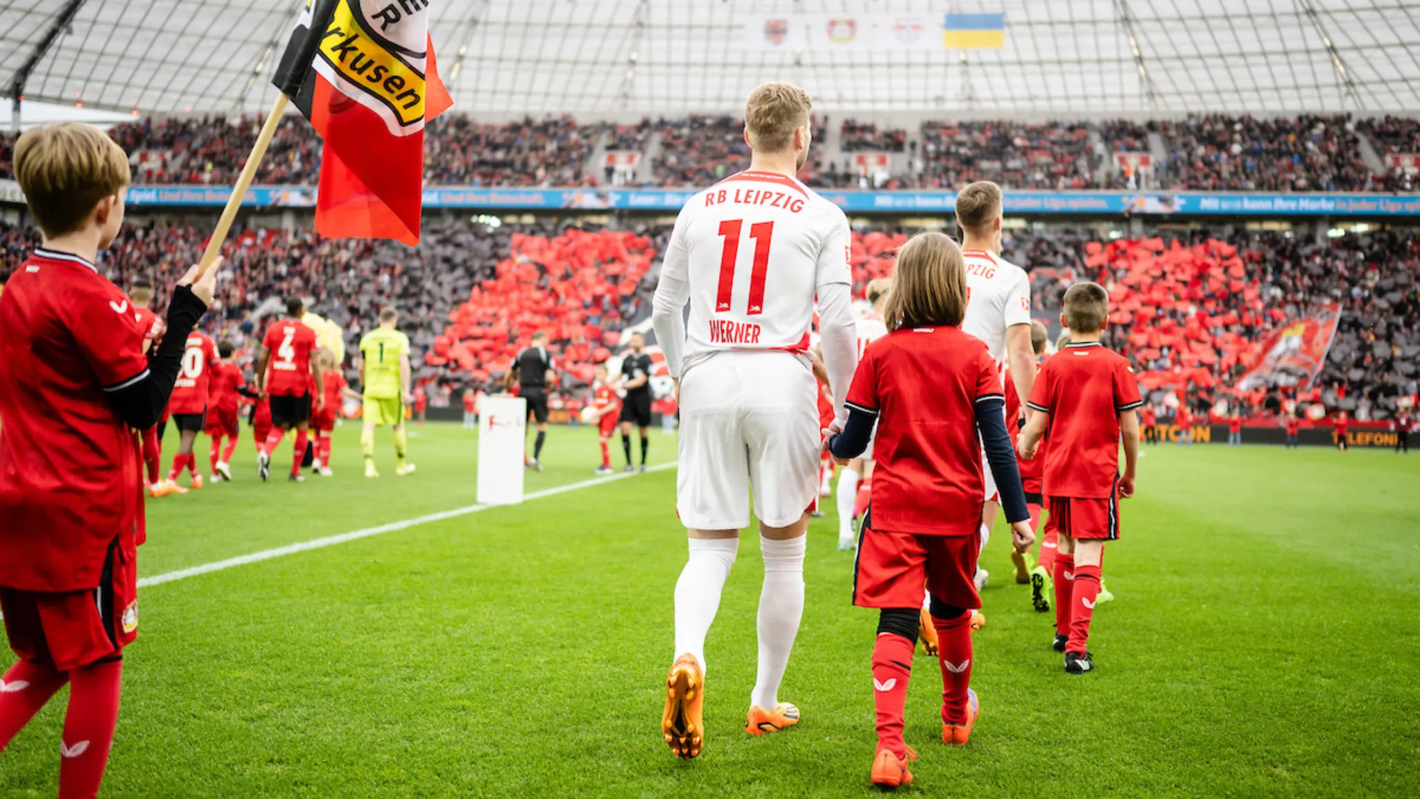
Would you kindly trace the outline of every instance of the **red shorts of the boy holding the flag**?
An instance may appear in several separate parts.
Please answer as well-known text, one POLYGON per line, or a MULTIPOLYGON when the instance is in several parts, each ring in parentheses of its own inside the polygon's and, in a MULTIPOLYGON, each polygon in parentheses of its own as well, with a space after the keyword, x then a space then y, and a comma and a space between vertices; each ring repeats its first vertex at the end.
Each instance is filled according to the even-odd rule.
POLYGON ((10 648, 20 660, 70 671, 115 658, 138 637, 138 567, 112 547, 99 586, 44 593, 0 589, 10 648))

